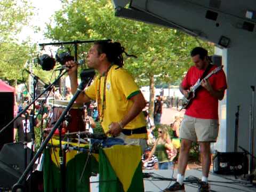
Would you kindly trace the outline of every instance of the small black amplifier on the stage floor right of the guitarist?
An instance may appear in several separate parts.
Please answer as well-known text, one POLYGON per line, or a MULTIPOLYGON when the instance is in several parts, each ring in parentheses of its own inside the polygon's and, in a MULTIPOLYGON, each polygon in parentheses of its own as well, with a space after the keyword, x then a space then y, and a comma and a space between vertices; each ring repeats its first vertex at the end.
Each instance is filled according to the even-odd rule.
POLYGON ((213 157, 213 172, 217 174, 246 174, 248 158, 243 152, 217 152, 213 157))

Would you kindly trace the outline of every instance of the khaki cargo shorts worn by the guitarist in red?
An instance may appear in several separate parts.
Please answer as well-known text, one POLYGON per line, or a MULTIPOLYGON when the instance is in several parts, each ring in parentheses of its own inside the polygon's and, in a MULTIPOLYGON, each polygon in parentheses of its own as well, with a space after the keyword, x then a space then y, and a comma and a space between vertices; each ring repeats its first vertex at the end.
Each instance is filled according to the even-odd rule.
POLYGON ((216 142, 219 134, 217 119, 202 119, 184 115, 180 125, 180 138, 190 141, 216 142))

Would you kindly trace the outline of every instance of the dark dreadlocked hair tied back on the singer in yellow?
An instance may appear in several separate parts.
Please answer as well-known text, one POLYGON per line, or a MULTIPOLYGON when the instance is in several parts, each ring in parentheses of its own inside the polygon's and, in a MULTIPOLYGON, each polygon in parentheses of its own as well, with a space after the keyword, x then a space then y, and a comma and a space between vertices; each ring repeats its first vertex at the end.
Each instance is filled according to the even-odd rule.
POLYGON ((123 53, 125 53, 127 57, 137 58, 135 55, 127 54, 124 51, 124 47, 121 46, 119 42, 97 41, 94 42, 94 45, 98 45, 97 50, 99 54, 105 53, 108 61, 119 67, 123 67, 124 65, 123 53))

